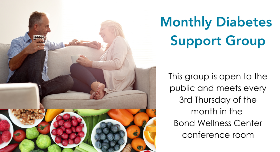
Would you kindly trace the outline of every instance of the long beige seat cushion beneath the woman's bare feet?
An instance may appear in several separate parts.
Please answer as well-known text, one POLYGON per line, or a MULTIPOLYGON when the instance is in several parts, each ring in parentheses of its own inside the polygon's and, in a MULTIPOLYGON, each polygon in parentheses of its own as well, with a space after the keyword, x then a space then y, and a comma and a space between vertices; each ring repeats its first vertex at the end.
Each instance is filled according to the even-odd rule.
POLYGON ((146 93, 138 90, 126 90, 109 93, 100 100, 90 99, 90 94, 67 91, 66 93, 45 96, 42 100, 45 108, 126 108, 145 109, 147 106, 146 93))

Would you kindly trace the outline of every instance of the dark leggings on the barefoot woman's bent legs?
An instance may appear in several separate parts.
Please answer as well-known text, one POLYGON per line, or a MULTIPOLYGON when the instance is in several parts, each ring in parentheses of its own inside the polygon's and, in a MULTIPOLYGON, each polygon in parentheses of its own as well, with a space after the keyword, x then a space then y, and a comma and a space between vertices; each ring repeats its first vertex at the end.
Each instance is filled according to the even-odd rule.
POLYGON ((70 72, 70 76, 74 81, 72 91, 90 93, 92 90, 90 86, 96 81, 105 84, 106 88, 104 74, 101 69, 84 67, 79 63, 74 63, 70 67, 70 72))

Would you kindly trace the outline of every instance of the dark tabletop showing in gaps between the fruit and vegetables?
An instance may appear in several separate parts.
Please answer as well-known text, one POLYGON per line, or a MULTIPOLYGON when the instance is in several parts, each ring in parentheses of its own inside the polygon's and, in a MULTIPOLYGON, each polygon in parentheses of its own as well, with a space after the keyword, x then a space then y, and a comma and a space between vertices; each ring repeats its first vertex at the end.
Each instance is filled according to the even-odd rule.
MULTIPOLYGON (((47 109, 46 109, 47 110, 47 109)), ((146 112, 146 109, 141 109, 141 112, 146 112)), ((8 114, 8 110, 0 110, 0 114, 3 114, 4 116, 6 116, 7 118, 9 118, 10 119, 10 116, 9 116, 9 114, 8 114)), ((134 116, 134 115, 133 115, 134 116)), ((107 118, 106 119, 111 119, 109 116, 108 116, 108 114, 107 114, 107 118)), ((149 118, 149 120, 150 120, 151 118, 149 118)), ((10 119, 10 121, 11 121, 11 119, 10 119)), ((35 120, 36 121, 36 120, 35 120)), ((45 117, 43 118, 43 121, 45 121, 45 117)), ((19 126, 17 126, 17 125, 15 125, 12 121, 11 121, 11 123, 13 124, 13 128, 14 128, 14 131, 16 131, 16 130, 18 130, 18 129, 22 129, 22 130, 24 130, 24 132, 25 132, 25 128, 20 128, 19 126)), ((50 124, 52 123, 52 121, 50 121, 49 122, 50 124)), ((129 126, 131 126, 131 125, 135 125, 134 124, 134 122, 132 121, 132 123, 130 123, 130 125, 128 125, 128 126, 125 126, 125 129, 127 129, 129 126)), ((141 139, 143 139, 143 130, 144 130, 144 128, 143 127, 139 127, 140 128, 140 135, 138 136, 139 138, 141 138, 141 139)), ((52 140, 52 137, 51 137, 51 131, 47 134, 48 136, 50 136, 50 138, 51 138, 51 141, 52 141, 52 144, 55 144, 55 142, 52 140)), ((33 139, 32 141, 35 143, 35 148, 34 148, 34 150, 36 150, 36 149, 40 149, 40 148, 38 148, 38 146, 36 145, 36 139, 37 138, 35 138, 35 139, 33 139)), ((126 142, 126 144, 131 144, 131 142, 132 142, 132 140, 133 139, 130 139, 130 138, 128 138, 127 137, 127 142, 126 142)), ((11 140, 11 142, 9 143, 9 144, 14 144, 14 143, 18 143, 18 144, 20 144, 20 142, 16 142, 14 139, 12 139, 11 140)), ((87 142, 85 142, 85 143, 87 143, 87 142)), ((94 144, 94 143, 92 143, 92 144, 94 144)), ((61 148, 61 150, 63 149, 62 147, 60 147, 61 148)), ((75 149, 75 148, 72 148, 73 150, 75 149)), ((47 152, 48 151, 48 149, 42 149, 43 151, 45 151, 45 152, 47 152)), ((146 146, 146 148, 145 149, 143 149, 143 150, 151 150, 148 146, 146 146)), ((20 152, 20 149, 17 147, 13 152, 20 152)), ((131 149, 131 152, 136 152, 136 150, 134 150, 133 148, 131 149)))

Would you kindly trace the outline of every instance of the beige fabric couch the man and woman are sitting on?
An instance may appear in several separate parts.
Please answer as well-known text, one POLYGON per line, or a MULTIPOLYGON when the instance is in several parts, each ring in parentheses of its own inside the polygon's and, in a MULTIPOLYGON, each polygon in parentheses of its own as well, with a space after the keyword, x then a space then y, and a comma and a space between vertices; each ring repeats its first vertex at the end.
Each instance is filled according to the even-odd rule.
MULTIPOLYGON (((0 84, 0 88, 3 88, 3 83, 6 83, 9 75, 7 56, 9 48, 9 44, 0 44, 0 83, 2 83, 0 84)), ((59 75, 70 74, 69 68, 72 64, 71 55, 75 54, 83 54, 90 60, 99 61, 103 50, 85 46, 68 46, 62 49, 50 50, 48 51, 48 77, 53 79, 59 75)), ((109 93, 100 100, 90 99, 90 94, 88 93, 69 90, 66 93, 45 96, 41 103, 45 108, 61 109, 156 108, 156 67, 138 67, 136 65, 135 73, 134 90, 109 93)), ((9 91, 7 92, 9 93, 9 91)), ((14 96, 17 95, 14 94, 14 96)), ((21 103, 16 98, 11 99, 10 102, 14 102, 15 104, 21 103)))

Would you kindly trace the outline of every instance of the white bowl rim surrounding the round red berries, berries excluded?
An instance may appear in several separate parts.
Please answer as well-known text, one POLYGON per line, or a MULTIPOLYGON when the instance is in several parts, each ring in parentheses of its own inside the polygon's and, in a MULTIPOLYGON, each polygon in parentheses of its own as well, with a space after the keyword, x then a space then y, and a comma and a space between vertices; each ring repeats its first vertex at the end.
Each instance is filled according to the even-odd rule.
MULTIPOLYGON (((63 117, 64 114, 70 114, 70 118, 71 118, 72 116, 75 116, 76 118, 82 118, 82 116, 80 116, 80 115, 78 115, 78 114, 76 114, 76 113, 74 113, 74 112, 63 112, 63 113, 61 113, 61 114, 59 114, 59 115, 57 115, 57 116, 62 116, 62 117, 63 117)), ((50 133, 51 133, 51 136, 52 136, 52 139, 53 139, 54 142, 55 142, 55 137, 56 137, 56 136, 52 134, 52 130, 55 129, 55 127, 53 126, 53 123, 56 121, 57 116, 53 119, 52 124, 51 124, 51 127, 50 127, 50 133)), ((85 139, 85 137, 86 137, 86 134, 87 134, 87 125, 86 125, 84 119, 82 119, 82 123, 84 124, 84 127, 83 127, 82 131, 85 133, 85 136, 81 138, 81 141, 79 142, 79 144, 71 144, 71 145, 68 144, 67 146, 63 146, 63 145, 61 144, 61 142, 60 142, 60 143, 57 144, 57 145, 60 146, 60 147, 63 147, 63 148, 74 148, 74 147, 80 145, 80 144, 84 141, 84 139, 85 139)))

